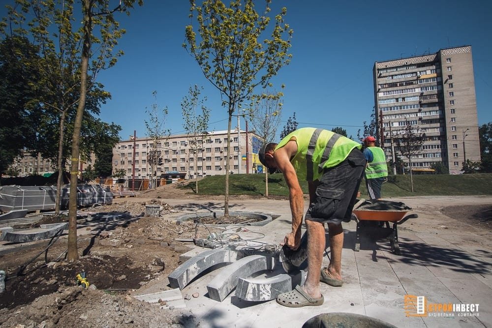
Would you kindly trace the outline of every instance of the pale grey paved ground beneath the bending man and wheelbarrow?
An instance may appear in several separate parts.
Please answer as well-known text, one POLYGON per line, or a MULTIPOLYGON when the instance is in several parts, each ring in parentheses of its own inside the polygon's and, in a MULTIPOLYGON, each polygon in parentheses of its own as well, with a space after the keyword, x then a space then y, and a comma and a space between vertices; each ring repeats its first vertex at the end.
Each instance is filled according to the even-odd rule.
MULTIPOLYGON (((410 206, 419 218, 399 227, 401 255, 391 252, 389 242, 363 238, 354 252, 356 223, 344 223, 342 287, 321 284, 322 306, 283 307, 275 300, 248 302, 231 293, 222 302, 207 297, 207 284, 220 269, 192 281, 182 290, 186 308, 176 315, 193 315, 199 327, 301 327, 309 318, 327 312, 362 314, 397 327, 492 327, 492 240, 490 231, 470 222, 450 219, 439 209, 452 205, 492 204, 492 197, 408 197, 388 199, 410 206), (406 316, 405 295, 425 297, 424 316, 406 316), (475 312, 444 312, 438 304, 479 304, 475 312), (434 306, 434 304, 436 304, 434 306), (435 308, 435 310, 434 310, 435 308), (468 316, 470 315, 471 316, 468 316), (450 317, 450 315, 453 316, 450 317), (434 317, 436 315, 437 317, 434 317), (444 317, 446 316, 446 317, 444 317)), ((219 210, 222 200, 163 200, 184 213, 219 210)), ((230 201, 231 211, 279 215, 273 222, 251 230, 265 235, 262 242, 278 244, 290 230, 288 201, 230 201)), ((328 264, 328 258, 324 259, 328 264)), ((170 289, 166 277, 139 290, 138 294, 170 289)), ((416 310, 410 309, 415 315, 416 310)))

